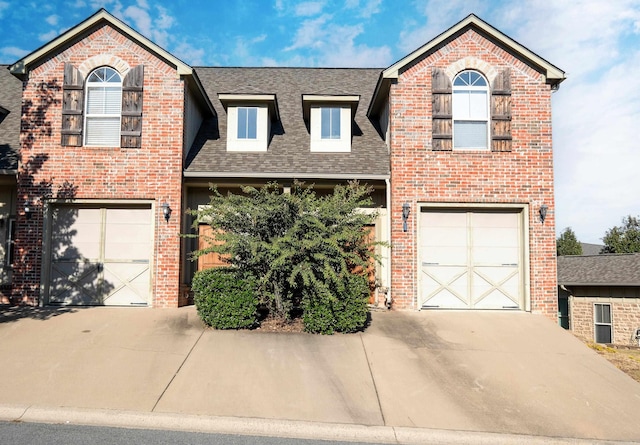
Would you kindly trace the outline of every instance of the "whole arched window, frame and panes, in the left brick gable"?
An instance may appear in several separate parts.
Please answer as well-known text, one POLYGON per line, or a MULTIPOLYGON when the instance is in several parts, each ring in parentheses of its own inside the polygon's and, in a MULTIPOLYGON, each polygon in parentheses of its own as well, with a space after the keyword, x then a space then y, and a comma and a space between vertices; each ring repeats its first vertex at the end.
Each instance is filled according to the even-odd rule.
POLYGON ((113 68, 97 68, 87 78, 84 145, 120 146, 122 78, 113 68))

